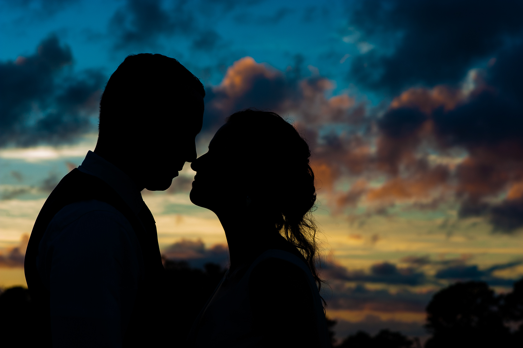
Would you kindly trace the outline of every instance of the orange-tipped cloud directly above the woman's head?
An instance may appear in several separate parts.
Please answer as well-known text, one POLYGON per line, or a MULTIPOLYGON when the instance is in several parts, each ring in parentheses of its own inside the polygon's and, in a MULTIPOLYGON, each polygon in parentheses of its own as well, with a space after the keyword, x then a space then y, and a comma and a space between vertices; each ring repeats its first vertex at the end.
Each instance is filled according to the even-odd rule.
POLYGON ((328 122, 357 123, 365 114, 363 106, 346 94, 327 97, 334 88, 332 81, 321 76, 302 78, 300 70, 299 62, 284 74, 252 57, 237 60, 220 85, 208 88, 204 128, 214 129, 227 116, 249 107, 296 115, 297 125, 301 122, 305 131, 328 122))

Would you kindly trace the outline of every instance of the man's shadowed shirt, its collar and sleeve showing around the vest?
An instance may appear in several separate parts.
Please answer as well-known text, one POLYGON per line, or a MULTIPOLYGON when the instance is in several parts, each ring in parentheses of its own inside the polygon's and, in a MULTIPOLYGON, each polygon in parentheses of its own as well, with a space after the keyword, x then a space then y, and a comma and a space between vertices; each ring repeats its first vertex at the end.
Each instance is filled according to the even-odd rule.
MULTIPOLYGON (((145 204, 131 178, 89 151, 78 170, 97 176, 138 214, 145 204)), ((37 268, 50 290, 53 347, 121 346, 143 277, 129 221, 98 200, 65 206, 40 241, 37 268)))

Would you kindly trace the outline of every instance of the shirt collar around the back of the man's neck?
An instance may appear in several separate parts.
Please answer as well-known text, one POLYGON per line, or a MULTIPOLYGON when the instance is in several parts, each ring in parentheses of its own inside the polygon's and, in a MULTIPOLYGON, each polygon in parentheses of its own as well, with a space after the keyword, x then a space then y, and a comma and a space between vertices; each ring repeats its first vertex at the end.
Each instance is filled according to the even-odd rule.
POLYGON ((114 164, 101 158, 93 151, 87 152, 82 165, 78 166, 78 170, 105 181, 136 214, 142 209, 144 204, 142 194, 136 188, 132 179, 114 164))

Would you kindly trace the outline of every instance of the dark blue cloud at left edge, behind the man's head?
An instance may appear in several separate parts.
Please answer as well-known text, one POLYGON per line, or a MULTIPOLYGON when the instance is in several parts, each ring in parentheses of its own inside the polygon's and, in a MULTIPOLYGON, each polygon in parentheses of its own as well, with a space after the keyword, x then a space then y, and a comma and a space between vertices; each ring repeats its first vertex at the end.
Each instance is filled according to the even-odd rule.
POLYGON ((92 130, 104 77, 73 75, 68 46, 49 36, 29 57, 0 63, 0 146, 73 141, 92 130))

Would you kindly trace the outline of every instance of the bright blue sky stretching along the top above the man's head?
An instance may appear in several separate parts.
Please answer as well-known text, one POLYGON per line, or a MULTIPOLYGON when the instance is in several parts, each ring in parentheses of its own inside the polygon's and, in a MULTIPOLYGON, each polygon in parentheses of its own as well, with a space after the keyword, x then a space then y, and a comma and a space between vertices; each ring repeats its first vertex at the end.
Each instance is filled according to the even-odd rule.
MULTIPOLYGON (((223 76, 220 65, 229 66, 245 55, 285 70, 299 54, 304 68, 313 65, 336 80, 338 88, 346 88, 349 83, 342 76, 351 59, 344 57, 359 52, 357 42, 343 41, 350 34, 349 8, 336 1, 328 5, 313 1, 151 1, 151 7, 166 11, 182 4, 191 23, 177 26, 178 18, 172 18, 172 28, 150 28, 154 23, 146 23, 141 28, 150 28, 153 39, 125 43, 121 35, 119 38, 121 31, 111 23, 118 15, 132 22, 134 13, 127 2, 49 3, 54 5, 45 10, 46 5, 37 1, 3 2, 0 59, 32 54, 43 38, 56 33, 71 47, 76 70, 103 69, 110 74, 129 53, 156 52, 177 58, 193 71, 211 69, 208 83, 215 85, 223 76), (190 31, 183 26, 190 26, 190 31)), ((305 68, 304 74, 311 72, 305 68)))

